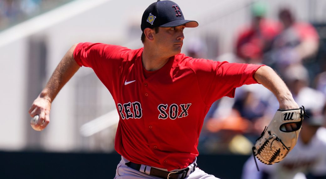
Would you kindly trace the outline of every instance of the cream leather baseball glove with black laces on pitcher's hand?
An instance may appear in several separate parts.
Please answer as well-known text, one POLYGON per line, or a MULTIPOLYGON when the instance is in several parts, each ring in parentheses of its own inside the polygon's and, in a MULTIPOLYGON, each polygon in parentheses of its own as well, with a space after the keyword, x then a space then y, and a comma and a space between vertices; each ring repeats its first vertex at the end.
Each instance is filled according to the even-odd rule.
POLYGON ((254 157, 267 165, 282 161, 297 143, 304 116, 307 116, 304 106, 299 109, 277 110, 252 148, 254 157), (285 124, 296 127, 287 130, 285 124))

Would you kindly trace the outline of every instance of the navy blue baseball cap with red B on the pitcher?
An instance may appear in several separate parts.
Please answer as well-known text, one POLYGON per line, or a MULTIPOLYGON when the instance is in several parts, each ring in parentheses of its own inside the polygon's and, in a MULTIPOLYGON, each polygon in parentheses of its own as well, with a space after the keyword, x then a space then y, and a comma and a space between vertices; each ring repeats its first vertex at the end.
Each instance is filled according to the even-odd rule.
POLYGON ((141 31, 145 28, 176 27, 185 24, 186 27, 197 27, 198 22, 185 20, 180 7, 172 1, 157 1, 144 11, 141 18, 141 31))

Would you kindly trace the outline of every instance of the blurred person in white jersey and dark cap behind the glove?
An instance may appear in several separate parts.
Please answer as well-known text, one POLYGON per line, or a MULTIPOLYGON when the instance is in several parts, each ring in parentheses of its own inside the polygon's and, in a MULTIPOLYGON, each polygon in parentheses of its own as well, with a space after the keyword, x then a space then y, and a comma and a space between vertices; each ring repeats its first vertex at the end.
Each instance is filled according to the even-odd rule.
POLYGON ((242 179, 310 179, 326 178, 326 140, 320 132, 325 128, 325 116, 320 111, 306 110, 310 118, 304 118, 298 143, 286 158, 274 165, 265 165, 253 156, 243 167, 242 179))

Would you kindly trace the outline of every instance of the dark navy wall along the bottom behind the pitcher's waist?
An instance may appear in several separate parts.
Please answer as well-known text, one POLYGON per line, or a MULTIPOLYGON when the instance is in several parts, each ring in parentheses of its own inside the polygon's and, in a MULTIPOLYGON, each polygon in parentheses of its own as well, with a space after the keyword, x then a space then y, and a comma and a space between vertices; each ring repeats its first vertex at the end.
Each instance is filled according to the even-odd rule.
MULTIPOLYGON (((197 164, 216 177, 239 179, 248 157, 200 155, 197 164)), ((114 178, 120 159, 107 153, 0 152, 0 178, 114 178)))

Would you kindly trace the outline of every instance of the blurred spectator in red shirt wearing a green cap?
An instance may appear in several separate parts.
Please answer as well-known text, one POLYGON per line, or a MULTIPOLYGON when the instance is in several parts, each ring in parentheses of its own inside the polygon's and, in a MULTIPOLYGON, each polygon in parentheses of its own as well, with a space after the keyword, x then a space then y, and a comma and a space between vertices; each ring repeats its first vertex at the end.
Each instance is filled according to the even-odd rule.
POLYGON ((275 35, 280 32, 280 24, 266 19, 266 5, 255 2, 251 7, 252 22, 237 37, 236 54, 246 63, 261 63, 263 53, 270 48, 275 35))

